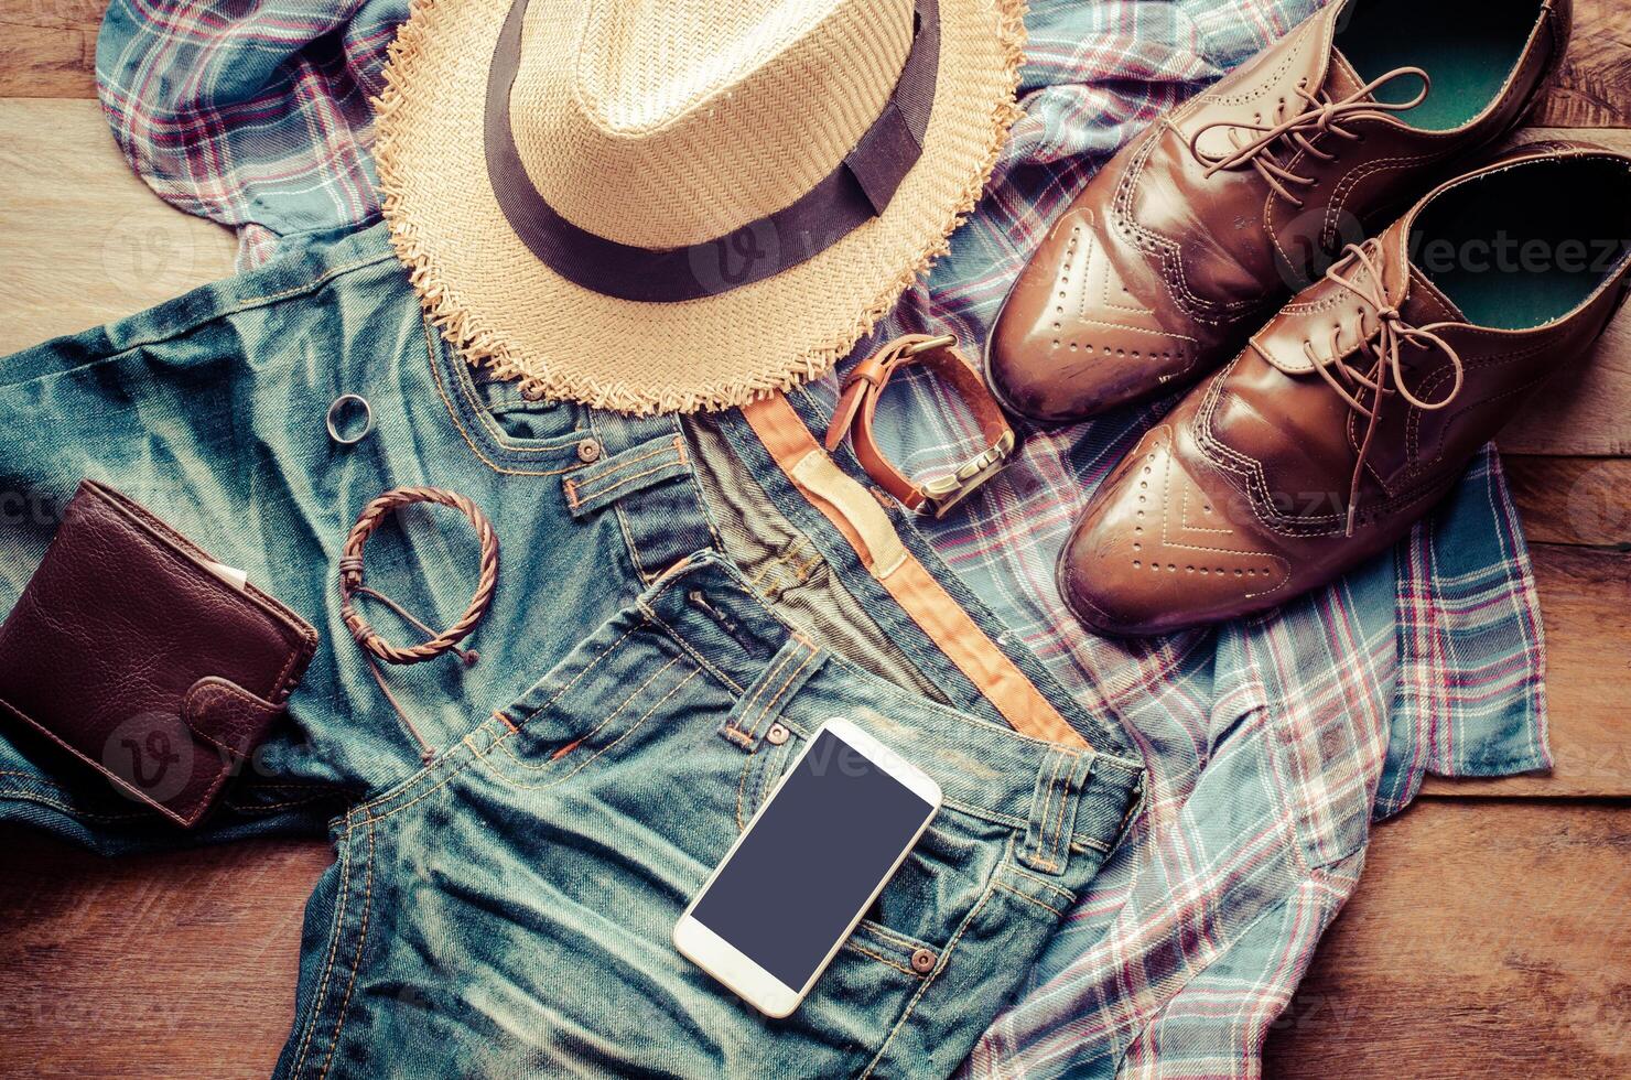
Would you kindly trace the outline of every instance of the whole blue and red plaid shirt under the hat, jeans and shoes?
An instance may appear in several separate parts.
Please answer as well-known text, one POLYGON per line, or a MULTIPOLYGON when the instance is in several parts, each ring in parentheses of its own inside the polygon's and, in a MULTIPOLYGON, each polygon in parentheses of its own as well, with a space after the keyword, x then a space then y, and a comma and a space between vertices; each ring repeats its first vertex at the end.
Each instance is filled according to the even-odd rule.
MULTIPOLYGON (((1026 116, 953 251, 858 352, 897 333, 979 343, 1049 222, 1155 116, 1316 0, 1037 0, 1026 116)), ((378 215, 369 98, 406 0, 219 7, 114 0, 101 100, 166 201, 238 228, 240 263, 378 215)), ((877 426, 897 460, 966 457, 970 419, 908 372, 877 426)), ((832 377, 817 392, 835 398, 832 377)), ((1155 641, 1070 618, 1054 558, 1093 488, 1168 403, 1029 431, 967 509, 925 522, 964 579, 1150 765, 1147 811, 1078 902, 1029 994, 964 1072, 1251 1077, 1352 894, 1372 819, 1427 773, 1549 767, 1533 574, 1486 449, 1408 540, 1277 612, 1155 641)))

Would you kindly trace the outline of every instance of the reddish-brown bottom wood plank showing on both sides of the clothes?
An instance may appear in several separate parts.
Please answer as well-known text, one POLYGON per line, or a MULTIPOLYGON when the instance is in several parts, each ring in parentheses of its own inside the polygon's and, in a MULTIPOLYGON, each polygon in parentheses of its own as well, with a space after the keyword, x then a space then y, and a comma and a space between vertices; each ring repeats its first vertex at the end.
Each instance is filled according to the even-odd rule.
MULTIPOLYGON (((1380 825, 1269 1075, 1628 1075, 1628 848, 1623 804, 1432 801, 1380 825)), ((103 860, 0 832, 0 1077, 266 1075, 329 858, 258 842, 103 860)))

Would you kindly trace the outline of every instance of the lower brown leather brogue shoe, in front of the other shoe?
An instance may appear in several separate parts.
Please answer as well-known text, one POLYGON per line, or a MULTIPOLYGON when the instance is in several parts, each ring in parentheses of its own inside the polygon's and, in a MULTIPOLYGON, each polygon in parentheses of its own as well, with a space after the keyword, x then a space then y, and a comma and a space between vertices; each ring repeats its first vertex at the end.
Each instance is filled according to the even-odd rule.
POLYGON ((1065 600, 1103 633, 1165 633, 1385 550, 1587 352, 1628 266, 1631 157, 1541 144, 1445 183, 1145 434, 1065 545, 1065 600))

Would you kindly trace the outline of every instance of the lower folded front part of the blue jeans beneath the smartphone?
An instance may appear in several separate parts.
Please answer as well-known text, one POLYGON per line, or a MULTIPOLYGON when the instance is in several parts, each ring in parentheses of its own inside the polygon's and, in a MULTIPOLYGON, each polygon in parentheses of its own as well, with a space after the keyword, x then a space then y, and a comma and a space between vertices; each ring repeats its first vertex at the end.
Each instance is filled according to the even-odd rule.
POLYGON ((654 1046, 670 1075, 951 1072, 1091 873, 1086 853, 1070 876, 1016 861, 1034 788, 1076 759, 863 675, 768 615, 698 556, 421 778, 356 808, 323 905, 333 961, 302 1005, 321 1060, 411 1041, 440 1073, 634 1075, 654 1046), (832 716, 935 770, 946 801, 771 1021, 672 932, 832 716))

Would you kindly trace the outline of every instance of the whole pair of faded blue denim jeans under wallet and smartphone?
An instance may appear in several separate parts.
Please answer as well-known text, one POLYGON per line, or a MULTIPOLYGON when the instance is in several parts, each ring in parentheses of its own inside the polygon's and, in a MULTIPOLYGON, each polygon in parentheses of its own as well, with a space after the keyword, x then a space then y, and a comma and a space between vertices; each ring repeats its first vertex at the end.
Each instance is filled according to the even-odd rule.
MULTIPOLYGON (((7 609, 93 476, 323 635, 287 723, 191 834, 0 723, 3 819, 104 852, 328 830, 279 1075, 943 1075, 1138 798, 1125 736, 1076 710, 908 517, 874 509, 861 532, 895 530, 966 620, 957 640, 884 587, 740 413, 633 419, 471 372, 380 228, 0 361, 0 426, 7 609), (352 447, 325 427, 346 393, 375 419, 352 447), (409 485, 470 496, 501 543, 481 659, 387 672, 429 762, 334 584, 360 507, 409 485), (1016 695, 1091 749, 1014 731, 1016 695), (930 772, 946 808, 775 1021, 669 932, 829 716, 930 772)), ((476 551, 457 514, 413 507, 370 540, 369 584, 445 625, 476 551)))

